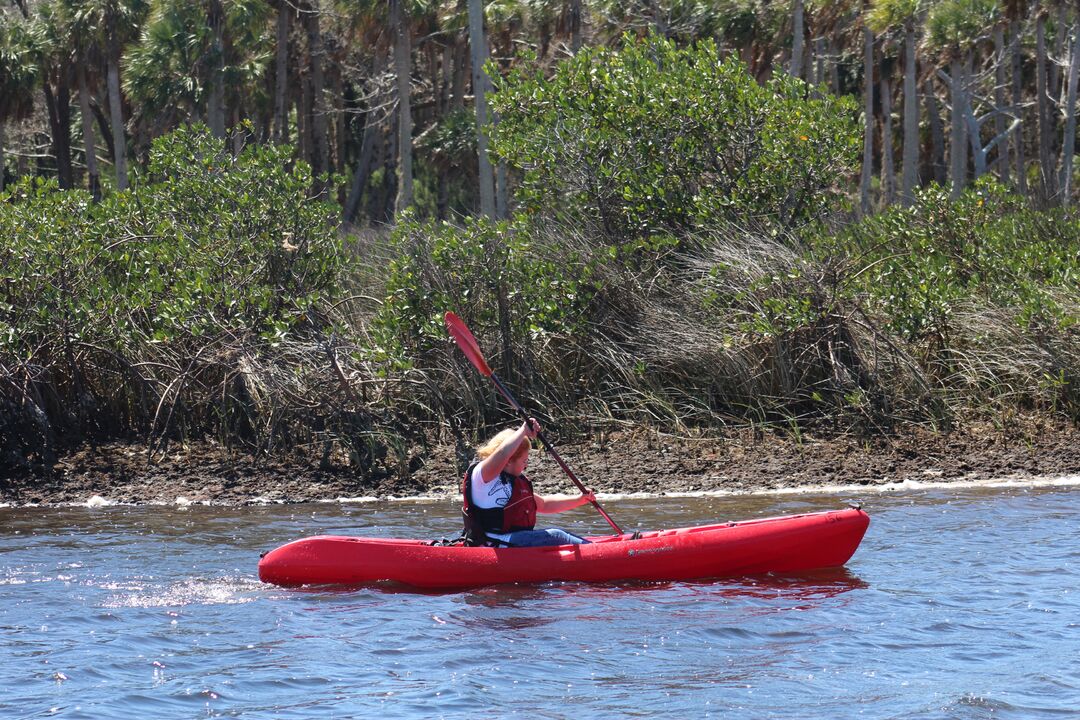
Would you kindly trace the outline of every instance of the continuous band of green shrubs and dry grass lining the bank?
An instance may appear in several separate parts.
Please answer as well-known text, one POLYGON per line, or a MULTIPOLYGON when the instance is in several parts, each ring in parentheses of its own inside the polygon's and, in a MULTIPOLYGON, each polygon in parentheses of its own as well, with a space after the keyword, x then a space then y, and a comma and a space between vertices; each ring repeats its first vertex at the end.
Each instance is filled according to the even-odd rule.
MULTIPOLYGON (((151 454, 214 437, 405 473, 426 431, 464 446, 505 421, 448 343, 448 309, 555 427, 1080 419, 1074 212, 983 180, 851 217, 850 100, 758 82, 707 40, 650 32, 550 71, 511 65, 492 96, 494 159, 517 188, 503 220, 429 212, 474 202, 449 182, 474 147, 462 107, 418 138, 431 164, 386 233, 345 234, 326 192, 341 178, 248 144, 251 124, 159 137, 133 186, 99 202, 60 178, 11 186, 0 473, 49 472, 65 443, 116 436, 151 454)), ((159 99, 166 113, 207 101, 159 99)), ((320 142, 305 122, 307 155, 320 142)), ((396 180, 372 127, 357 148, 372 182, 350 202, 375 217, 396 180)))

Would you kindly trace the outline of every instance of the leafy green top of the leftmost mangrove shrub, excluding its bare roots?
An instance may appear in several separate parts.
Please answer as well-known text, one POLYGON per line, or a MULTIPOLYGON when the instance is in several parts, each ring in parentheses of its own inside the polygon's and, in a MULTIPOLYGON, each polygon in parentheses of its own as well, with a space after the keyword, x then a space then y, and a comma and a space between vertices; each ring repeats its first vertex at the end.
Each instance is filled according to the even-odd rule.
POLYGON ((185 130, 156 142, 146 182, 97 205, 55 182, 13 187, 0 205, 4 351, 50 364, 72 342, 283 337, 333 297, 345 262, 333 208, 287 162, 185 130))

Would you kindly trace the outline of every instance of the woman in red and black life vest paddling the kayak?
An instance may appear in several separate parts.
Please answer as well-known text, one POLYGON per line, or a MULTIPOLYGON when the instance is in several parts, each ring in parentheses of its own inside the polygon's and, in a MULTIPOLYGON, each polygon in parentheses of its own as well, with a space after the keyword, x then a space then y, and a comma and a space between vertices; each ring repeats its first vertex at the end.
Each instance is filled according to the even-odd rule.
POLYGON ((467 544, 537 547, 589 542, 557 528, 535 529, 537 513, 562 513, 596 500, 592 492, 561 500, 532 492, 525 468, 529 440, 539 432, 540 423, 529 418, 517 430, 503 430, 476 451, 462 485, 467 544))

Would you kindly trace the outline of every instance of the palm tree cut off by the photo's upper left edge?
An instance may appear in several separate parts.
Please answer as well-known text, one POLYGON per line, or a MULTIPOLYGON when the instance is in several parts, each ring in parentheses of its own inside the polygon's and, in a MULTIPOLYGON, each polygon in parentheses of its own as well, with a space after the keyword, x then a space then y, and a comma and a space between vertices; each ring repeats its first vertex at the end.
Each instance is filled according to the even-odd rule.
POLYGON ((0 190, 6 178, 4 124, 28 116, 38 83, 39 43, 30 24, 0 10, 0 190))

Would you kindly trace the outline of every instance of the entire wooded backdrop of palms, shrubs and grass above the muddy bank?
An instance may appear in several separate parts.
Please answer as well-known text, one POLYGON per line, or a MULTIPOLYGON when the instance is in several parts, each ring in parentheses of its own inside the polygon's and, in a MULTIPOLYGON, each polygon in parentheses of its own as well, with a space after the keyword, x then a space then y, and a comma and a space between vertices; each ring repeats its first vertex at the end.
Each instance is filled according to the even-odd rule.
POLYGON ((9 0, 0 474, 1080 419, 1080 6, 9 0))

